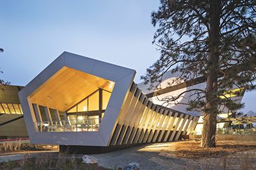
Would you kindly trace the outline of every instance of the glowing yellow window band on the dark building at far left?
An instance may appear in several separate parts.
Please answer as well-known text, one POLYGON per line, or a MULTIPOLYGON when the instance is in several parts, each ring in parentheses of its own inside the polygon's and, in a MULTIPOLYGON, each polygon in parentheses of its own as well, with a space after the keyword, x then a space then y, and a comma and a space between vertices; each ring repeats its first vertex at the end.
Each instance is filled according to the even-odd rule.
POLYGON ((0 114, 23 114, 20 104, 0 103, 0 114))

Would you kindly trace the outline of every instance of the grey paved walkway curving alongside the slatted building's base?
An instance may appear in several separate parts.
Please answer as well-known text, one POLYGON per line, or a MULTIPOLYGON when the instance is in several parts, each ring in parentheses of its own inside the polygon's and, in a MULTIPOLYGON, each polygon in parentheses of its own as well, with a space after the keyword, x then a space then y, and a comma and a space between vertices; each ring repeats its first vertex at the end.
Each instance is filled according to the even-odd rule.
MULTIPOLYGON (((171 143, 165 143, 170 147, 171 143)), ((195 165, 194 160, 177 158, 173 155, 164 155, 161 152, 162 146, 157 144, 135 146, 111 153, 94 154, 99 160, 99 166, 114 169, 123 167, 125 164, 137 162, 141 169, 184 169, 195 165), (150 148, 149 148, 150 147, 150 148)))

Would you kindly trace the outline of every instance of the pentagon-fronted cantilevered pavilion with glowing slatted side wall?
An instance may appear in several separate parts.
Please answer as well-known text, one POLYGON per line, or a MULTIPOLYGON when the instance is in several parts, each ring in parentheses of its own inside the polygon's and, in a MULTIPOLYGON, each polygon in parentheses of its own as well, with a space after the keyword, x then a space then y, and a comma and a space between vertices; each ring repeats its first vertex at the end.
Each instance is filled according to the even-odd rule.
POLYGON ((135 74, 64 52, 19 92, 31 143, 120 148, 176 141, 194 130, 199 117, 148 100, 135 74))

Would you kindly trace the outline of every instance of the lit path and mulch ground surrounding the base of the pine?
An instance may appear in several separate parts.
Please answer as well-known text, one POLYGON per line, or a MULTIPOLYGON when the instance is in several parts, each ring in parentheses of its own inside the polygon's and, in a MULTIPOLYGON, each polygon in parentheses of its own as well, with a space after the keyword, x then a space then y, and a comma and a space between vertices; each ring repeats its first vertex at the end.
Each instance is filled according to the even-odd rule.
POLYGON ((136 146, 92 155, 99 165, 113 169, 137 162, 141 169, 256 169, 256 141, 219 141, 216 148, 200 148, 199 141, 136 146))

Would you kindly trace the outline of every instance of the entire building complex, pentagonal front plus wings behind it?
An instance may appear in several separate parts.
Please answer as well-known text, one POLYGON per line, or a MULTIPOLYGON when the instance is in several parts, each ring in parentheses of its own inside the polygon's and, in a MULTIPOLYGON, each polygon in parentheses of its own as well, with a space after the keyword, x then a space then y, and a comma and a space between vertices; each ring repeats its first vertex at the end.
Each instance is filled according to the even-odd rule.
MULTIPOLYGON (((92 148, 97 153, 201 134, 202 114, 183 105, 190 93, 176 105, 164 99, 191 88, 204 89, 204 77, 170 84, 179 75, 169 71, 160 88, 149 90, 147 84, 134 83, 135 74, 129 68, 64 52, 27 86, 1 87, 0 139, 29 137, 34 144, 59 145, 76 153, 90 153, 92 148)), ((228 91, 225 98, 241 102, 243 95, 233 93, 237 90, 228 91)), ((256 132, 255 116, 229 115, 223 107, 217 132, 256 132)))

